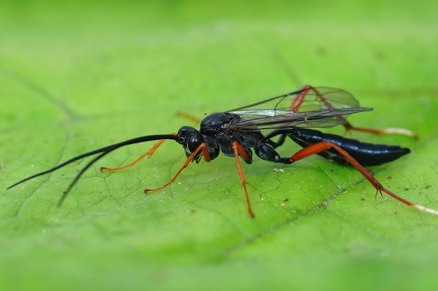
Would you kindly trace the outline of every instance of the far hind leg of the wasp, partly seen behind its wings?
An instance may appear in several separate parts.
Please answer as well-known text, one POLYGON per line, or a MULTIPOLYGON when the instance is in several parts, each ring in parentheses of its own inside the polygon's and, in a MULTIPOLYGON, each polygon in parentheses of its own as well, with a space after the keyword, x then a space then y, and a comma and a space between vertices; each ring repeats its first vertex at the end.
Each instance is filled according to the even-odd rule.
MULTIPOLYGON (((297 95, 297 97, 295 97, 295 99, 292 102, 292 105, 290 105, 290 110, 297 112, 299 110, 299 107, 302 105, 304 98, 306 98, 306 95, 309 93, 309 91, 313 91, 314 94, 316 94, 316 96, 318 96, 318 98, 323 102, 323 104, 325 106, 327 106, 328 108, 332 108, 332 105, 330 104, 330 101, 327 100, 323 94, 321 94, 316 88, 311 87, 310 85, 306 85, 303 87, 303 91, 301 93, 299 93, 297 95)), ((362 131, 365 133, 373 133, 376 135, 383 135, 383 134, 392 134, 392 133, 397 133, 397 134, 401 134, 401 135, 407 135, 410 137, 414 137, 414 139, 418 139, 418 135, 416 133, 414 133, 411 130, 407 130, 405 128, 385 128, 385 129, 374 129, 374 128, 361 128, 361 127, 356 127, 356 126, 352 126, 348 121, 346 121, 346 119, 344 117, 337 117, 341 120, 343 120, 345 122, 345 124, 343 124, 344 128, 346 128, 346 130, 356 130, 356 131, 362 131)))

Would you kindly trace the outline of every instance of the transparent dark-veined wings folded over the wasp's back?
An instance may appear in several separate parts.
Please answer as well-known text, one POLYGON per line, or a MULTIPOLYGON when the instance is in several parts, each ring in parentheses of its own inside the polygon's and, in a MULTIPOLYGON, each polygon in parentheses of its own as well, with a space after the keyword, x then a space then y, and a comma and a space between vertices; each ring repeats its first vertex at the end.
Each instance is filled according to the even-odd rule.
POLYGON ((308 87, 257 103, 229 110, 241 117, 229 129, 263 130, 283 127, 330 127, 345 124, 348 114, 370 111, 359 107, 347 91, 329 87, 308 87), (341 118, 344 116, 344 118, 341 118))

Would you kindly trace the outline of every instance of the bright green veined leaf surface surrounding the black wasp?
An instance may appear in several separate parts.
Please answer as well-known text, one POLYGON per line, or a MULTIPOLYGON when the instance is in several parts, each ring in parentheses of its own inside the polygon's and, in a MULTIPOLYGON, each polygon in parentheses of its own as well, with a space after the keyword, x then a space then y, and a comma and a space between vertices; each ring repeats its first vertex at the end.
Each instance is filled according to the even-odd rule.
MULTIPOLYGON (((67 158, 304 84, 351 91, 356 126, 412 153, 373 167, 438 209, 436 1, 1 1, 0 290, 437 290, 438 219, 351 167, 311 157, 274 172, 192 164, 166 142, 120 149, 56 203, 84 163, 6 191, 67 158)), ((342 128, 332 131, 343 134, 342 128)), ((281 154, 299 148, 287 142, 281 154)))

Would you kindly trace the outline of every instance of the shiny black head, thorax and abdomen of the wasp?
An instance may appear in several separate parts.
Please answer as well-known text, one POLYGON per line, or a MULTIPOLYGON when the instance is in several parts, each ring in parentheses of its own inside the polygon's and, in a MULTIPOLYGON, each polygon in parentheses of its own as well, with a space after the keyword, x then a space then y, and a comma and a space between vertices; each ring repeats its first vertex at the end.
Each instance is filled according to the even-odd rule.
MULTIPOLYGON (((294 126, 274 129, 267 135, 263 135, 260 130, 256 129, 236 129, 234 124, 240 121, 239 114, 229 112, 213 113, 202 120, 199 130, 191 126, 183 126, 178 131, 177 142, 183 145, 186 156, 190 156, 204 142, 209 150, 210 160, 216 158, 220 151, 225 156, 234 156, 232 142, 238 142, 250 157, 246 160, 246 163, 252 162, 253 152, 251 149, 254 149, 255 154, 262 160, 274 163, 292 163, 290 158, 282 158, 275 150, 276 147, 283 144, 285 137, 290 137, 302 147, 309 147, 311 144, 318 142, 331 142, 344 149, 361 165, 381 165, 382 163, 394 161, 410 152, 409 149, 399 146, 360 142, 340 135, 321 133, 318 130, 294 126), (276 136, 279 136, 278 140, 272 140, 276 136)), ((346 158, 334 149, 327 149, 318 154, 338 163, 348 164, 346 158)), ((199 152, 193 161, 199 162, 201 158, 202 152, 199 152)))

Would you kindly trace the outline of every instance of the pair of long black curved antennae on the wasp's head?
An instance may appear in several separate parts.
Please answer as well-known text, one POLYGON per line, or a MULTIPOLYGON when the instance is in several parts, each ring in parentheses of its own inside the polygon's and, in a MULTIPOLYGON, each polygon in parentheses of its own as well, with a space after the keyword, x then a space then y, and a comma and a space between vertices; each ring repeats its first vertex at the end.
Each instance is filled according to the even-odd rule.
POLYGON ((74 158, 71 158, 69 161, 66 161, 60 165, 57 165, 56 167, 52 167, 49 170, 45 170, 43 172, 39 172, 37 174, 34 174, 30 177, 27 177, 25 179, 22 179, 21 181, 17 181, 17 183, 8 186, 7 189, 13 188, 14 186, 17 186, 19 184, 24 183, 25 181, 28 181, 30 179, 33 179, 35 177, 39 177, 42 176, 43 174, 48 174, 50 172, 54 172, 55 170, 58 170, 61 167, 64 167, 65 165, 69 165, 69 163, 73 163, 74 161, 78 161, 81 158, 86 158, 87 156, 92 156, 94 154, 99 154, 101 153, 99 156, 97 156, 96 158, 92 159, 92 161, 90 161, 90 163, 87 163, 87 165, 85 165, 85 167, 83 168, 83 170, 80 170, 79 174, 76 175, 75 179, 71 182, 71 184, 69 185, 69 188, 66 189, 66 191, 64 191, 64 195, 62 196, 61 200, 59 201, 59 204, 62 203, 62 201, 64 200, 65 196, 69 193, 69 191, 71 190, 71 188, 73 187, 74 184, 76 184, 76 182, 78 181, 78 179, 80 178, 80 176, 82 176, 82 174, 96 161, 98 161, 100 158, 102 158, 103 156, 105 156, 106 154, 111 153, 111 151, 114 151, 115 149, 118 149, 120 147, 125 147, 129 144, 138 144, 140 142, 150 142, 152 140, 177 140, 177 136, 175 134, 171 134, 171 135, 146 135, 143 137, 136 137, 133 138, 132 140, 125 140, 125 142, 119 142, 118 144, 112 144, 108 147, 102 147, 101 149, 96 149, 94 151, 89 151, 85 154, 81 154, 79 156, 76 156, 74 158))

